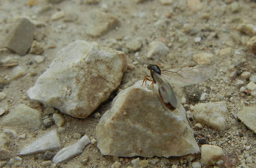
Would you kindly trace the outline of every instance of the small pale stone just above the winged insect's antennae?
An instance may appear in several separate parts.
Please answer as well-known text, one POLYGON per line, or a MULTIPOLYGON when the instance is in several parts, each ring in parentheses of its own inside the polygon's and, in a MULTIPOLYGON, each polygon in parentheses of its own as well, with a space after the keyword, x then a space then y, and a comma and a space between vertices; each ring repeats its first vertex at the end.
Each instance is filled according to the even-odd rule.
POLYGON ((161 41, 153 41, 149 43, 149 52, 147 58, 164 57, 169 52, 169 48, 161 41))

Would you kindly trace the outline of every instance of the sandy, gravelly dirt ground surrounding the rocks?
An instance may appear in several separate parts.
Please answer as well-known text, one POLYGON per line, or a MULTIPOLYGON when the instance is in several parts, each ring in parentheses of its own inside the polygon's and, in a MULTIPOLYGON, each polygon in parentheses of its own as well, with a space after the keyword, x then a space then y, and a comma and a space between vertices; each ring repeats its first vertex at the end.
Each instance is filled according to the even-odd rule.
MULTIPOLYGON (((255 97, 248 93, 240 92, 241 86, 249 83, 248 78, 241 78, 243 71, 250 72, 255 75, 256 61, 255 54, 247 51, 246 41, 250 35, 246 32, 239 32, 237 29, 241 23, 256 23, 256 3, 255 1, 236 1, 239 5, 237 10, 233 10, 235 3, 233 0, 225 1, 173 1, 171 5, 164 5, 159 0, 145 0, 141 3, 135 1, 108 0, 99 1, 96 4, 86 3, 83 0, 64 0, 60 3, 49 3, 46 0, 19 1, 19 0, 1 0, 0 1, 0 40, 4 43, 4 36, 8 33, 13 19, 16 17, 26 17, 33 23, 42 23, 42 26, 36 28, 36 41, 44 46, 44 61, 36 63, 35 55, 26 54, 20 56, 8 49, 2 48, 0 51, 0 61, 13 58, 17 60, 19 65, 28 68, 25 76, 11 80, 9 84, 2 86, 1 91, 6 97, 0 101, 0 107, 12 111, 13 108, 21 103, 27 104, 29 107, 42 110, 43 117, 45 107, 37 108, 38 103, 30 101, 26 91, 32 87, 40 74, 42 74, 51 61, 56 57, 56 53, 68 45, 69 43, 83 39, 86 41, 94 41, 100 46, 111 47, 116 50, 124 50, 125 44, 132 40, 139 40, 142 43, 140 50, 137 52, 127 53, 128 70, 124 74, 120 89, 132 86, 136 81, 142 80, 149 71, 148 65, 142 59, 149 52, 148 44, 152 41, 162 41, 169 47, 169 53, 165 56, 154 56, 153 59, 147 59, 149 63, 161 63, 164 67, 195 64, 194 54, 212 53, 209 58, 212 65, 217 68, 217 74, 208 81, 195 87, 206 88, 206 101, 192 101, 186 97, 184 89, 180 86, 173 86, 174 90, 180 97, 186 97, 187 102, 184 107, 190 110, 190 105, 200 102, 216 102, 225 101, 228 108, 228 118, 226 129, 224 131, 214 130, 208 126, 202 129, 195 129, 195 120, 191 119, 191 127, 193 128, 196 141, 201 146, 202 138, 206 139, 206 143, 220 146, 224 154, 236 155, 239 158, 237 167, 242 167, 242 163, 246 163, 248 167, 256 167, 256 135, 250 131, 245 125, 236 119, 236 113, 246 107, 255 107, 255 97), (29 6, 31 5, 31 6, 29 6), (44 12, 38 12, 43 6, 50 5, 50 9, 44 12), (232 6, 233 5, 233 6, 232 6), (119 24, 100 35, 99 37, 89 36, 85 30, 90 27, 87 23, 87 12, 98 10, 114 15, 119 24), (71 22, 65 22, 65 17, 52 20, 51 17, 57 11, 64 11, 65 17, 75 14, 77 19, 71 22), (200 37, 199 42, 195 42, 195 38, 200 37), (55 48, 51 46, 55 45, 55 48), (220 56, 219 51, 223 48, 230 47, 232 53, 228 56, 220 56), (31 63, 32 62, 32 63, 31 63), (238 75, 231 77, 236 71, 237 65, 243 67, 238 68, 238 75), (36 75, 30 75, 31 73, 36 75), (238 80, 244 83, 238 84, 238 80), (249 150, 245 146, 250 146, 249 150), (252 160, 246 162, 246 157, 251 156, 252 160)), ((96 1, 93 1, 96 2, 96 1)), ((235 6, 236 7, 236 6, 235 6)), ((208 60, 208 61, 209 61, 208 60)), ((12 76, 13 67, 3 67, 0 69, 1 79, 12 76)), ((62 146, 68 146, 76 142, 73 138, 74 133, 86 134, 90 139, 95 138, 95 127, 99 118, 94 117, 94 113, 99 112, 101 115, 110 108, 114 92, 108 101, 103 103, 100 108, 93 112, 86 119, 78 119, 68 115, 65 118, 66 128, 64 133, 59 134, 62 146), (67 127, 67 123, 70 127, 67 127)), ((1 116, 2 117, 2 116, 1 116)), ((26 134, 25 140, 20 140, 10 136, 11 142, 9 150, 11 151, 12 162, 8 161, 5 167, 43 167, 42 162, 45 161, 43 154, 35 154, 28 156, 20 156, 21 161, 15 160, 19 156, 20 149, 36 139, 36 137, 44 135, 51 129, 58 128, 52 125, 46 130, 39 129, 36 131, 24 130, 20 127, 8 127, 16 131, 18 135, 26 134)), ((205 140, 204 139, 204 140, 205 140)), ((124 147, 125 149, 125 147, 124 147)), ((122 167, 132 166, 131 160, 137 158, 124 159, 122 167), (125 163, 125 160, 129 160, 125 163)), ((183 162, 180 157, 165 158, 156 157, 159 162, 148 167, 191 167, 192 162, 183 162), (175 166, 173 166, 175 167, 175 166)), ((144 158, 140 157, 140 160, 144 158)), ((200 162, 199 157, 194 160, 200 162)), ((193 161, 193 162, 194 162, 193 161)), ((82 154, 68 160, 67 162, 57 164, 57 167, 111 167, 115 162, 112 156, 103 156, 96 144, 88 144, 82 154), (89 157, 87 163, 83 162, 84 158, 89 157)))

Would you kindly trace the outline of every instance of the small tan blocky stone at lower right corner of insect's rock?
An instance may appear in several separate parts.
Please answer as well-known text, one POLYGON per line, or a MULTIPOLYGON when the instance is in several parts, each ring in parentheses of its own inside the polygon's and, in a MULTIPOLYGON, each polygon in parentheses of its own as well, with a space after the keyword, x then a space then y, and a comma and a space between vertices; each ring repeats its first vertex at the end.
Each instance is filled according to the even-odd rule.
POLYGON ((223 157, 223 150, 219 146, 202 145, 201 146, 201 163, 203 165, 215 165, 223 157))

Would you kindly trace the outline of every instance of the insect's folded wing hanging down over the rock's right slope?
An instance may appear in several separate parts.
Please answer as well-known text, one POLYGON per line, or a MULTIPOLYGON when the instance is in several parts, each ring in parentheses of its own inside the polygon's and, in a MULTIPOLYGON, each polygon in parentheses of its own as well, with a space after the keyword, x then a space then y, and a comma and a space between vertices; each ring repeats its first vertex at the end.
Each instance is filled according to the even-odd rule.
POLYGON ((171 85, 167 83, 161 75, 153 72, 154 80, 158 85, 158 92, 161 100, 163 101, 164 105, 169 108, 171 111, 175 110, 179 105, 180 102, 175 95, 171 85))

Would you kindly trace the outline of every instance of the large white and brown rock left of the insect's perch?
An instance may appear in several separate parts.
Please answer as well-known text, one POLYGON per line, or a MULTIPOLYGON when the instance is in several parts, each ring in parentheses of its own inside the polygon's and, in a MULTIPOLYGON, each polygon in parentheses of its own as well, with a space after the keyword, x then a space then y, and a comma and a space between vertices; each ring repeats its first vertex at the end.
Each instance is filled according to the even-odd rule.
POLYGON ((95 42, 77 40, 57 55, 28 96, 74 117, 85 118, 106 101, 126 70, 123 52, 95 42))

